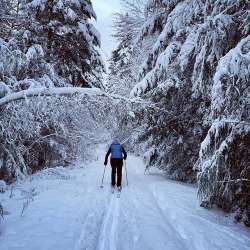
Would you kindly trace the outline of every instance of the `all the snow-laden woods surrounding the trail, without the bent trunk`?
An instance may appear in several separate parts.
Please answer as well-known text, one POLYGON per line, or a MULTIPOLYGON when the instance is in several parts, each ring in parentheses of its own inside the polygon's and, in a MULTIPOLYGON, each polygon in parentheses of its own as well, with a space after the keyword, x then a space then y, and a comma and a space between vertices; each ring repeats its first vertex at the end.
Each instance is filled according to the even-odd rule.
POLYGON ((122 3, 104 86, 91 1, 0 2, 1 99, 39 88, 106 91, 1 105, 0 179, 87 159, 116 135, 148 168, 197 183, 202 206, 249 226, 249 1, 122 3))

